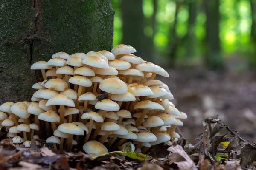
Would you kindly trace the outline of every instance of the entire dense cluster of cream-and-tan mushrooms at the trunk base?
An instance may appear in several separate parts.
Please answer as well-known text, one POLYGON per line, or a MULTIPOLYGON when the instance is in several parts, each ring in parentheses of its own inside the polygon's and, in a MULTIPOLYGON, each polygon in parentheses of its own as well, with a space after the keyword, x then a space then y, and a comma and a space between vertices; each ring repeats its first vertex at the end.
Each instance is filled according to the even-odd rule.
POLYGON ((31 139, 44 139, 58 150, 81 146, 96 155, 122 150, 130 141, 141 153, 172 144, 180 137, 176 126, 187 116, 170 102, 168 86, 154 79, 169 74, 134 52, 129 45, 117 45, 111 52, 58 52, 34 63, 31 69, 41 70, 44 81, 32 86, 37 90, 32 102, 0 106, 0 127, 25 147, 31 139))

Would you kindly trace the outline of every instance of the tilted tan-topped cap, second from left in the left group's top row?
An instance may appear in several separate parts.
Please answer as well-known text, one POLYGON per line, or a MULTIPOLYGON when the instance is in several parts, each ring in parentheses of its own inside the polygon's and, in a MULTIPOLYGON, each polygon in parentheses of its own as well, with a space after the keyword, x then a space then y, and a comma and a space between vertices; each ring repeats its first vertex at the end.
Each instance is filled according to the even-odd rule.
POLYGON ((22 102, 17 102, 11 106, 12 113, 23 119, 27 119, 30 116, 27 110, 28 105, 22 102))

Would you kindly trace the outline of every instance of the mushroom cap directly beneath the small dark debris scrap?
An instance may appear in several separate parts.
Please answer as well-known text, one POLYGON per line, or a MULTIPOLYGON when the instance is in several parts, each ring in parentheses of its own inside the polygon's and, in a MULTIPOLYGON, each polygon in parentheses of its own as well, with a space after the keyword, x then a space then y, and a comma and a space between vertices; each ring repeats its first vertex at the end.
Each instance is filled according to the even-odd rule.
POLYGON ((97 102, 95 108, 104 111, 119 111, 120 109, 119 105, 110 99, 97 102))

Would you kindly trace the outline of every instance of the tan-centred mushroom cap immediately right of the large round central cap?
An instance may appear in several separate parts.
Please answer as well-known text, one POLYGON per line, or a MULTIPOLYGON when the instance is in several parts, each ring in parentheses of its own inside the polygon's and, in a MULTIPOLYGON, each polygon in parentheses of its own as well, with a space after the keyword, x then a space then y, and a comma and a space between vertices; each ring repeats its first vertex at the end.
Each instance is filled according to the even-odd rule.
POLYGON ((134 96, 149 96, 154 94, 149 87, 142 84, 132 83, 127 87, 128 92, 132 93, 134 96))

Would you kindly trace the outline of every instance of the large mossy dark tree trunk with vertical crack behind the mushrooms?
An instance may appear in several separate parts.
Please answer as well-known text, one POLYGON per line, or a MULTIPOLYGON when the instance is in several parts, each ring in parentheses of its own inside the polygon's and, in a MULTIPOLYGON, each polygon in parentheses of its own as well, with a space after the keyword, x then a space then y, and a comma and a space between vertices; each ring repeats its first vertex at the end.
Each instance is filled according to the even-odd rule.
POLYGON ((32 63, 52 54, 110 51, 110 0, 0 0, 0 103, 29 100, 41 81, 32 63))

